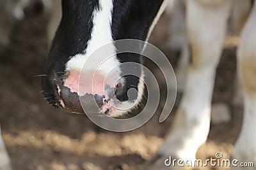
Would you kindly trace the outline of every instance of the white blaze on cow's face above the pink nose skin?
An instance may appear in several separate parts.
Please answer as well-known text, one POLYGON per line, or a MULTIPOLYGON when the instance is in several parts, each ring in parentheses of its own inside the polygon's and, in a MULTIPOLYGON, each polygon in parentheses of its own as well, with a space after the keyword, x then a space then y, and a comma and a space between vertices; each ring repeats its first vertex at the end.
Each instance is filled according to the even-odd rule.
MULTIPOLYGON (((74 57, 70 57, 70 60, 67 62, 66 69, 77 69, 81 70, 84 66, 84 62, 90 57, 93 52, 95 52, 100 47, 112 43, 109 45, 107 51, 104 53, 99 53, 97 56, 94 56, 95 63, 90 65, 90 68, 83 68, 83 71, 86 70, 96 70, 98 69, 98 63, 101 63, 102 60, 111 55, 115 55, 115 45, 113 44, 113 38, 111 35, 111 22, 112 22, 112 10, 113 10, 113 1, 112 0, 100 0, 100 10, 95 9, 93 11, 93 29, 91 34, 91 39, 88 41, 88 46, 84 49, 83 54, 77 54, 74 57)), ((108 74, 111 69, 118 66, 120 62, 116 57, 111 57, 111 59, 106 60, 100 67, 99 71, 101 73, 108 74)))

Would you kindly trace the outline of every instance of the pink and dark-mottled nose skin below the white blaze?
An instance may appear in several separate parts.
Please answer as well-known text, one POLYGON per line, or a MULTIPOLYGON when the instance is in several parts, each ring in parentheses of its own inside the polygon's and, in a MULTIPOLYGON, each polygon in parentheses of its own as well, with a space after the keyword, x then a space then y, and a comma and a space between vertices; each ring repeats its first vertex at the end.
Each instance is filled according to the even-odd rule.
MULTIPOLYGON (((62 106, 65 107, 68 105, 68 110, 77 110, 74 108, 77 107, 77 99, 72 99, 72 96, 76 94, 77 97, 80 97, 79 101, 82 99, 83 109, 86 108, 86 113, 95 112, 95 110, 92 110, 90 107, 93 104, 92 100, 97 102, 98 112, 111 115, 111 112, 115 111, 115 107, 113 107, 115 104, 113 100, 111 100, 111 96, 115 95, 115 88, 110 88, 105 76, 100 73, 95 74, 95 71, 80 73, 80 71, 75 69, 72 69, 69 73, 63 88, 65 91, 67 91, 67 89, 68 91, 70 90, 72 95, 70 97, 60 95, 62 106), (72 103, 72 100, 76 101, 76 103, 72 103)), ((115 83, 112 83, 111 86, 115 86, 115 83)), ((61 90, 58 89, 58 93, 61 94, 61 90)), ((66 94, 68 95, 67 92, 66 94)))

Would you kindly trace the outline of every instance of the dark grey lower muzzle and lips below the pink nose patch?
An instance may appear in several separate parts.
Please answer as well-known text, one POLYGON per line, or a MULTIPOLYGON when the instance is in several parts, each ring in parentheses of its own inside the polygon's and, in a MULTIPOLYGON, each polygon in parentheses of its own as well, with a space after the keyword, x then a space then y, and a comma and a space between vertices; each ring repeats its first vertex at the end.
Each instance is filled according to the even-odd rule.
POLYGON ((65 87, 65 78, 57 76, 55 73, 52 73, 51 77, 48 76, 43 81, 47 83, 47 87, 45 86, 47 90, 44 92, 45 99, 55 108, 71 113, 84 114, 86 112, 88 115, 102 116, 103 114, 110 117, 115 109, 115 106, 113 106, 115 105, 113 99, 115 98, 115 88, 111 88, 109 85, 106 85, 106 97, 88 93, 79 96, 76 92, 72 92, 68 87, 65 87), (83 99, 88 99, 88 103, 82 104, 81 102, 84 102, 83 99), (92 105, 95 106, 95 109, 90 112, 90 106, 92 105))

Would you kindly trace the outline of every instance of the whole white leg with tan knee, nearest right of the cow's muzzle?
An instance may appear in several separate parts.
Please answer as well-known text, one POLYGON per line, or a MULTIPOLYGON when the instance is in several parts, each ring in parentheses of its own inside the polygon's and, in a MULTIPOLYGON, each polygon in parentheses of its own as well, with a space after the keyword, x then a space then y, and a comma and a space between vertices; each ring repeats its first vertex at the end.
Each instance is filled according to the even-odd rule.
POLYGON ((163 159, 169 156, 195 159, 196 151, 209 133, 214 78, 225 37, 230 1, 186 2, 191 65, 172 132, 153 159, 153 162, 156 161, 154 169, 163 169, 163 159))

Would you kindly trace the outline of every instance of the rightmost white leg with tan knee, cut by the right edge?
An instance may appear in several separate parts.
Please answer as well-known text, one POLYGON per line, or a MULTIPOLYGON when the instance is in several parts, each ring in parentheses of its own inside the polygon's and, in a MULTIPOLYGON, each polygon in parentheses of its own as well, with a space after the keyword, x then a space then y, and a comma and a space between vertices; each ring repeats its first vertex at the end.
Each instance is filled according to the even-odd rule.
MULTIPOLYGON (((244 90, 244 118, 233 157, 240 162, 256 160, 256 3, 241 34, 237 50, 239 76, 244 90)), ((239 167, 238 167, 239 169, 239 167)), ((248 168, 249 169, 249 168, 248 168)), ((252 167, 256 169, 256 167, 252 167)))

